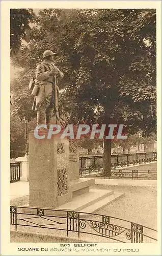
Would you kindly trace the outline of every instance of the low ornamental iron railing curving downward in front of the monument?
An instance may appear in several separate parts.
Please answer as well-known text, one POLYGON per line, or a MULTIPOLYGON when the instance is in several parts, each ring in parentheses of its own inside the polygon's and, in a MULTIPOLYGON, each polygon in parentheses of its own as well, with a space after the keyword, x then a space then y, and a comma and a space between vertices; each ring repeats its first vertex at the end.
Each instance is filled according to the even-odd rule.
MULTIPOLYGON (((59 230, 64 230, 67 232, 67 237, 69 235, 69 231, 70 232, 77 232, 78 233, 78 238, 80 237, 80 233, 86 233, 86 234, 92 234, 92 235, 96 235, 96 236, 100 236, 100 237, 105 237, 107 239, 113 239, 116 240, 118 242, 125 242, 124 239, 126 239, 127 241, 131 241, 131 243, 143 243, 143 238, 144 237, 148 237, 148 230, 150 230, 151 232, 153 231, 154 234, 153 236, 149 236, 148 238, 154 241, 157 241, 155 235, 157 234, 157 230, 149 228, 149 227, 144 227, 141 224, 137 224, 134 222, 130 222, 124 219, 118 219, 118 218, 114 218, 114 217, 110 217, 110 216, 104 216, 104 215, 100 215, 100 214, 92 214, 92 213, 86 213, 86 215, 89 215, 91 218, 87 218, 84 216, 80 219, 80 214, 85 214, 85 212, 78 212, 78 211, 70 211, 70 210, 51 210, 51 209, 45 209, 46 214, 44 214, 44 209, 40 209, 40 208, 36 208, 36 207, 16 207, 16 206, 10 206, 10 224, 15 226, 15 229, 17 230, 17 226, 21 225, 21 226, 25 226, 25 227, 34 227, 35 225, 38 225, 37 227, 39 228, 48 228, 46 227, 46 225, 49 225, 48 221, 53 221, 53 224, 50 224, 49 229, 58 229, 58 226, 56 227, 55 225, 55 217, 56 218, 60 218, 63 219, 63 222, 61 220, 59 220, 58 224, 63 224, 66 225, 66 228, 63 226, 61 228, 59 228, 59 230), (30 209, 30 212, 25 211, 24 209, 30 209), (31 210, 33 209, 32 215, 35 215, 35 210, 37 209, 37 219, 38 223, 36 223, 35 221, 30 221, 28 222, 28 225, 26 225, 26 221, 28 221, 29 216, 31 216, 31 210), (21 211, 22 210, 22 211, 21 211), (57 211, 57 216, 54 214, 49 214, 48 211, 57 211), (62 214, 58 214, 58 212, 65 212, 66 213, 66 217, 65 215, 62 216, 62 214), (24 213, 25 215, 27 215, 26 217, 24 217, 24 213), (19 214, 19 217, 17 218, 17 215, 19 214), (23 216, 22 216, 23 214, 23 216), (59 215, 59 216, 58 216, 59 215), (47 224, 45 225, 41 225, 40 223, 40 218, 42 216, 46 216, 47 218, 43 218, 43 222, 45 220, 47 220, 47 224), (100 216, 101 220, 95 220, 96 218, 93 217, 98 217, 100 216), (52 218, 52 219, 51 219, 52 218), (65 222, 65 218, 66 218, 66 222, 65 222), (111 221, 110 221, 111 218, 111 221), (113 219, 115 219, 115 223, 113 221, 113 219), (17 221, 20 220, 21 222, 18 223, 17 221), (117 223, 117 221, 119 221, 119 223, 117 223), (125 227, 122 226, 121 224, 123 222, 126 222, 127 224, 129 223, 129 227, 125 227), (53 226, 52 226, 53 225, 53 226), (52 227, 51 227, 52 226, 52 227), (120 227, 120 228, 119 228, 120 227), (90 230, 91 228, 91 230, 90 230), (93 232, 96 231, 96 232, 93 232), (115 230, 115 236, 113 234, 115 230), (126 231, 126 233, 125 233, 126 231), (123 234, 123 238, 120 236, 121 234, 123 234), (117 237, 119 236, 119 238, 117 237), (115 239, 115 237, 117 237, 117 239, 115 239), (121 240, 120 240, 121 237, 121 240)), ((31 219, 31 218, 30 218, 31 219)), ((124 224, 124 223, 123 223, 124 224)))

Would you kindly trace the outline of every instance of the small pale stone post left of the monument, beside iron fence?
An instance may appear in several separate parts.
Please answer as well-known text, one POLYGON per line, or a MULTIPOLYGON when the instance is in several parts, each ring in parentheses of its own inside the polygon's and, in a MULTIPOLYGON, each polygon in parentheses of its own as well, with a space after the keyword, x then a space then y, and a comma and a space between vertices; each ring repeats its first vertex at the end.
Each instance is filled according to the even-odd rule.
POLYGON ((21 162, 21 181, 29 181, 29 157, 17 157, 16 161, 21 162))

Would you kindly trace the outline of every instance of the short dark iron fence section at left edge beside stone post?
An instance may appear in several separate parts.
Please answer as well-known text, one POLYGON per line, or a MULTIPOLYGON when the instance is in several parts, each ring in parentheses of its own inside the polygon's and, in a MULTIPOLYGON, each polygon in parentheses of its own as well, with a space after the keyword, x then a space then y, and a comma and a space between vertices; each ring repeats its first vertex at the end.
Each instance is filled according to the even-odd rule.
POLYGON ((10 183, 17 182, 21 177, 21 162, 10 163, 10 183))

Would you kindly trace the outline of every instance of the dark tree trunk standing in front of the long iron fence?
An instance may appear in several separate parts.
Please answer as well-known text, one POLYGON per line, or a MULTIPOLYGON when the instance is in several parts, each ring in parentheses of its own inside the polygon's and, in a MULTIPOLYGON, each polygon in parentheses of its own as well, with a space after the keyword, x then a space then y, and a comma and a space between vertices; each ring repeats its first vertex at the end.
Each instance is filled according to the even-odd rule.
POLYGON ((111 140, 104 139, 103 148, 103 173, 106 177, 111 176, 111 140))

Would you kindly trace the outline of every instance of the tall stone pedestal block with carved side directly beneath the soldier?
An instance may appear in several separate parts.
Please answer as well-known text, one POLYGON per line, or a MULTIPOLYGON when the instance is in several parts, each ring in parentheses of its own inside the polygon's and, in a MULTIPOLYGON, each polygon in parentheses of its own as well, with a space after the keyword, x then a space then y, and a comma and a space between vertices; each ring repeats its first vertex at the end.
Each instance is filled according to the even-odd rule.
POLYGON ((69 187, 69 140, 42 131, 44 139, 29 134, 30 206, 55 208, 72 199, 69 187))

